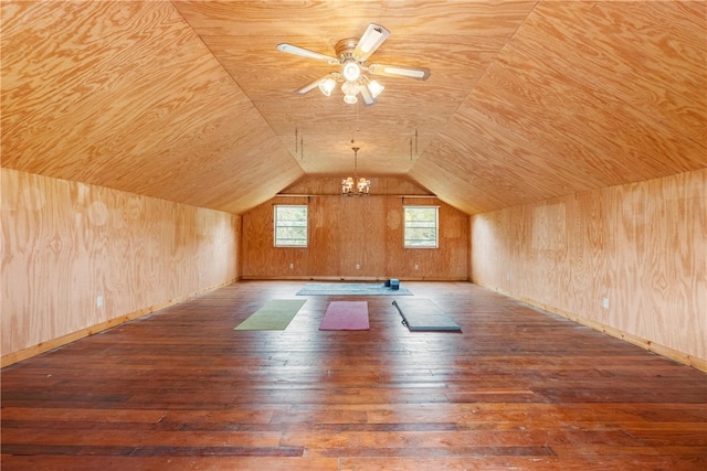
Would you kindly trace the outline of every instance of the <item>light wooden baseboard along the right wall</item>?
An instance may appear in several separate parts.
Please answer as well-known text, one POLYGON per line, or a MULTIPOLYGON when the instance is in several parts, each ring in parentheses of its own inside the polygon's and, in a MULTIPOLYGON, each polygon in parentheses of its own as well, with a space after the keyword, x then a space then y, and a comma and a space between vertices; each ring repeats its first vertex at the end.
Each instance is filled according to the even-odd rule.
POLYGON ((701 372, 707 373, 707 360, 706 358, 700 358, 700 357, 687 354, 685 352, 680 352, 680 351, 672 349, 669 346, 662 345, 659 343, 655 343, 652 340, 643 339, 643 338, 641 338, 639 335, 634 335, 632 333, 624 332, 624 331, 622 331, 620 329, 612 328, 611 325, 605 325, 605 324, 603 324, 601 322, 593 321, 591 319, 587 319, 587 318, 583 318, 581 315, 573 314, 571 312, 562 311, 561 309, 557 309, 557 308, 553 308, 551 306, 547 306, 547 304, 545 304, 542 302, 538 302, 538 301, 535 301, 532 299, 516 298, 511 293, 506 292, 503 289, 499 289, 499 288, 496 288, 496 287, 485 286, 485 285, 478 283, 478 282, 476 282, 476 283, 479 285, 479 286, 483 286, 484 288, 488 288, 488 289, 492 289, 492 290, 494 290, 496 292, 499 292, 502 295, 508 296, 510 298, 518 299, 519 301, 526 302, 526 303, 528 303, 530 306, 535 306, 536 308, 540 308, 544 311, 551 312, 551 313, 560 315, 560 317, 562 317, 564 319, 569 319, 570 321, 573 321, 573 322, 577 322, 579 324, 585 325, 585 327, 588 327, 590 329, 593 329, 595 331, 605 333, 605 334, 611 335, 611 336, 613 336, 615 339, 623 340, 624 342, 629 342, 632 345, 636 345, 636 346, 640 346, 642 349, 645 349, 648 352, 653 352, 653 353, 655 353, 657 355, 664 356, 666 358, 673 360, 675 362, 692 366, 692 367, 694 367, 696 370, 699 370, 701 372))

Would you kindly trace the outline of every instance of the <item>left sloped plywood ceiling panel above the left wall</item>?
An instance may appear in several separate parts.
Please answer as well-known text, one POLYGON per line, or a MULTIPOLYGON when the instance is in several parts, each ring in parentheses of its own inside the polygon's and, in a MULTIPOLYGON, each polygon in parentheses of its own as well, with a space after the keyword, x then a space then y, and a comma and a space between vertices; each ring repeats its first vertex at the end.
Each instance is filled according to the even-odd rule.
POLYGON ((171 3, 11 3, 2 22, 3 167, 236 213, 302 176, 171 3))

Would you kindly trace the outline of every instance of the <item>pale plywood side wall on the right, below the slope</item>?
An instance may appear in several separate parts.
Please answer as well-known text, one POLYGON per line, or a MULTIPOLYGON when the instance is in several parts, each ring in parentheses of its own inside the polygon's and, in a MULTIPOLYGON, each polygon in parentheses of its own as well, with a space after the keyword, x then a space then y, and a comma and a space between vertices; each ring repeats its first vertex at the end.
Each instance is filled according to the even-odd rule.
POLYGON ((471 227, 474 282, 707 371, 707 170, 478 214, 471 227))

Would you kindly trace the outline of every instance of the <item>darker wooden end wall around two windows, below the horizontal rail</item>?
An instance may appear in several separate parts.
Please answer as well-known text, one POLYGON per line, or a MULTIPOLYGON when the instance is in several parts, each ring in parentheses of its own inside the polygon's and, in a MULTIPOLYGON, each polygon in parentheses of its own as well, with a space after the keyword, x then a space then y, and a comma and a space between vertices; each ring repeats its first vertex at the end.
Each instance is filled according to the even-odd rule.
POLYGON ((468 227, 466 214, 436 197, 276 196, 243 214, 240 271, 250 279, 467 280, 468 227), (403 248, 403 202, 440 206, 439 248, 403 248), (308 205, 307 248, 274 247, 275 204, 308 205))

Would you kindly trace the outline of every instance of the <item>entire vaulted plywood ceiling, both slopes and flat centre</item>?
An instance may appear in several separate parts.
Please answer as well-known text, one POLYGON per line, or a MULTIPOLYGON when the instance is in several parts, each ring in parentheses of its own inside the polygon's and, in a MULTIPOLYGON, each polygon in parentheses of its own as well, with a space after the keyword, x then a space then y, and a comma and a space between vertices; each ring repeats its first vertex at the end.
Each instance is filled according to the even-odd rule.
MULTIPOLYGON (((469 214, 707 167, 707 2, 3 1, 2 167, 242 213, 404 176, 469 214), (370 22, 371 107, 296 88, 370 22)), ((376 189, 372 189, 376 193, 376 189)))

